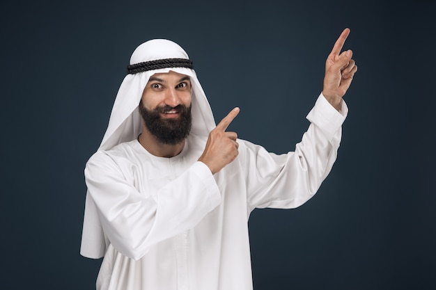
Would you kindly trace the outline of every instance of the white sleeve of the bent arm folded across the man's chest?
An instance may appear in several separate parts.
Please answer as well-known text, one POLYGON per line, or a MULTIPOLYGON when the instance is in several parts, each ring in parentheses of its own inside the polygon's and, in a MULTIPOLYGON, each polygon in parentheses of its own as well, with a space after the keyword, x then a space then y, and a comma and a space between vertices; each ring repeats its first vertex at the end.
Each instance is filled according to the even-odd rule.
POLYGON ((118 252, 135 260, 151 245, 194 227, 221 202, 209 168, 198 161, 153 194, 157 198, 126 182, 104 152, 88 161, 85 180, 104 234, 118 252))

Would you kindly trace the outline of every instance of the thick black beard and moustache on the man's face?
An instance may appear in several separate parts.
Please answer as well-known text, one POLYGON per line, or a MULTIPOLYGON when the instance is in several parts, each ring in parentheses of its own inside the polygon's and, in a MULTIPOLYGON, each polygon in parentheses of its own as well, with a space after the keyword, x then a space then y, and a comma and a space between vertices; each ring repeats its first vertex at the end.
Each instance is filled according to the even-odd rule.
POLYGON ((139 113, 146 124, 150 133, 162 144, 176 145, 181 143, 189 135, 192 127, 191 107, 179 104, 178 106, 158 106, 149 111, 139 103, 139 113), (177 110, 180 117, 177 119, 162 119, 160 113, 165 111, 177 110))

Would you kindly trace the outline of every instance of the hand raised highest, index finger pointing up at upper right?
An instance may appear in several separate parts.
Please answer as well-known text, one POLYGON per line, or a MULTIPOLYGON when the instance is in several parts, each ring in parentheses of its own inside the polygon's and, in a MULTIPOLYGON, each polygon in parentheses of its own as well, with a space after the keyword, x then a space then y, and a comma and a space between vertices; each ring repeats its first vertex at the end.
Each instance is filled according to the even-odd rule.
POLYGON ((350 29, 344 29, 334 44, 325 62, 324 87, 322 95, 337 110, 341 108, 341 100, 357 72, 357 65, 352 60, 352 51, 348 49, 341 53, 343 44, 350 34, 350 29))

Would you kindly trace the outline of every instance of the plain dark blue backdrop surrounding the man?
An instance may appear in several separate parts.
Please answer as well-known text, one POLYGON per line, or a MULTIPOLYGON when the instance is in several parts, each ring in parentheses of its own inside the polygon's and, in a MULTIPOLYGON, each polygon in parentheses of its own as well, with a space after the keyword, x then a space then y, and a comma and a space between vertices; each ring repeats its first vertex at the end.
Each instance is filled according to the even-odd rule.
POLYGON ((150 38, 194 60, 217 121, 294 150, 345 27, 359 66, 332 173, 249 221, 255 289, 436 289, 435 1, 3 1, 1 289, 94 289, 84 164, 150 38), (5 271, 6 269, 6 271, 5 271))

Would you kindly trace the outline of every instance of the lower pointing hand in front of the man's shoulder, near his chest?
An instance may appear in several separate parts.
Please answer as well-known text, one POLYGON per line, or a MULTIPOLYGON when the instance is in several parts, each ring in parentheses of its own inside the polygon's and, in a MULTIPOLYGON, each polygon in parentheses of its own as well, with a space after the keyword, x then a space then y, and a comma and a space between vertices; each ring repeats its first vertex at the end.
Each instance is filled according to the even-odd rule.
POLYGON ((226 129, 239 111, 239 108, 233 108, 209 133, 205 150, 198 161, 205 163, 212 174, 217 173, 238 156, 239 144, 236 142, 238 135, 235 132, 226 132, 226 129))

